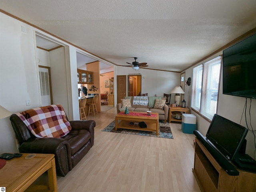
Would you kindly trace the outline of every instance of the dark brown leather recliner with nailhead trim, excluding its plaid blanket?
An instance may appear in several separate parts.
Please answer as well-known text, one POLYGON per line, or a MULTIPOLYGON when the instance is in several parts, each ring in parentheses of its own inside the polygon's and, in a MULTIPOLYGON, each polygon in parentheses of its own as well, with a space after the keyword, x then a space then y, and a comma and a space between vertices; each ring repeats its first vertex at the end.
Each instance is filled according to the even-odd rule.
POLYGON ((93 120, 69 121, 72 129, 62 138, 35 137, 16 114, 10 116, 10 121, 20 143, 20 153, 54 154, 58 176, 72 170, 94 145, 93 120))

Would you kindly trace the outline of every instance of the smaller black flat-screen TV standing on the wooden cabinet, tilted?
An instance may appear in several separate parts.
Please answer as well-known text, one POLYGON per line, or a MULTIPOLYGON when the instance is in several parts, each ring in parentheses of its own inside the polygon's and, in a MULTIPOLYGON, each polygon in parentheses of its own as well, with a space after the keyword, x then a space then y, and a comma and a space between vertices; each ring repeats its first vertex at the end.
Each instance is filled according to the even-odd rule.
POLYGON ((242 146, 248 129, 217 114, 206 133, 207 141, 232 161, 242 146))

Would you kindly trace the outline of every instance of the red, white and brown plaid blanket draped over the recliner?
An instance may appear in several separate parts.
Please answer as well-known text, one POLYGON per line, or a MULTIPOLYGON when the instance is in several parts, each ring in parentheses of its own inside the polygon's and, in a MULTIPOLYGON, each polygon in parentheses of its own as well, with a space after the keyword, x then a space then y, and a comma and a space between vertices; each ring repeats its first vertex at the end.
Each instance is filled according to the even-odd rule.
POLYGON ((60 138, 71 130, 64 109, 59 104, 26 110, 16 115, 36 137, 60 138))

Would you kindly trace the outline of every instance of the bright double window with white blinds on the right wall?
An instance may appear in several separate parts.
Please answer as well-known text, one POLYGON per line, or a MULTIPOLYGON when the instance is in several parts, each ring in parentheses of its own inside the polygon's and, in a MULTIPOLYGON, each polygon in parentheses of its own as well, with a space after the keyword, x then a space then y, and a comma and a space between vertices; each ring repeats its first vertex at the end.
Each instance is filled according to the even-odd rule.
POLYGON ((221 56, 193 69, 191 107, 208 120, 217 109, 221 56))

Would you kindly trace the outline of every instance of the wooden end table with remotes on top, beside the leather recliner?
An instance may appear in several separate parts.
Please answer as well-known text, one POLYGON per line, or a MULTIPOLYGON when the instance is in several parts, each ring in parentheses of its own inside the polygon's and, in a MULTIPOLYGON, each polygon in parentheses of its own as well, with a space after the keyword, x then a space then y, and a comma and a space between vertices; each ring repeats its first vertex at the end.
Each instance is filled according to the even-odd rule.
POLYGON ((25 159, 28 153, 22 153, 21 157, 6 160, 6 165, 0 169, 0 186, 6 187, 6 191, 18 192, 27 188, 30 191, 57 192, 57 178, 55 159, 53 154, 36 154, 32 159, 25 159), (32 185, 40 175, 48 171, 48 185, 32 185))

